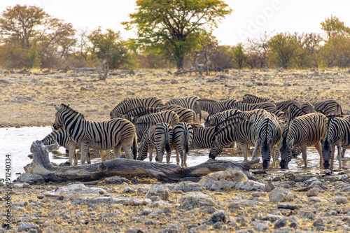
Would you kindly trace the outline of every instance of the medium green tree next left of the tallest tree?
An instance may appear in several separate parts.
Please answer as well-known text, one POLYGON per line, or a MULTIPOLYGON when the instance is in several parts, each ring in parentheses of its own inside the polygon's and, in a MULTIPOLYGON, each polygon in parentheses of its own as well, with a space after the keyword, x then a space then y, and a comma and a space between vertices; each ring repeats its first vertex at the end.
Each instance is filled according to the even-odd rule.
POLYGON ((102 33, 102 29, 99 27, 92 31, 87 38, 92 44, 90 51, 93 58, 106 59, 111 69, 118 69, 129 64, 130 55, 126 42, 120 36, 120 31, 107 29, 106 33, 102 33))

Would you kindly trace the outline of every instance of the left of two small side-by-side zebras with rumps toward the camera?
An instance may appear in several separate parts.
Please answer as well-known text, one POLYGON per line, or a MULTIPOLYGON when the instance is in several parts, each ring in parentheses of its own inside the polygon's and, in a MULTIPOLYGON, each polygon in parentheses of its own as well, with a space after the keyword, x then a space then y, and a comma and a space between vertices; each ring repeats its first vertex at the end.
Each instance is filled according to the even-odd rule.
POLYGON ((170 153, 172 135, 172 127, 169 124, 158 123, 153 125, 150 129, 148 129, 144 139, 142 139, 139 145, 139 156, 137 157, 137 160, 145 160, 148 152, 150 161, 152 161, 153 148, 157 148, 156 153, 158 162, 162 162, 164 148, 167 151, 167 155, 170 153))

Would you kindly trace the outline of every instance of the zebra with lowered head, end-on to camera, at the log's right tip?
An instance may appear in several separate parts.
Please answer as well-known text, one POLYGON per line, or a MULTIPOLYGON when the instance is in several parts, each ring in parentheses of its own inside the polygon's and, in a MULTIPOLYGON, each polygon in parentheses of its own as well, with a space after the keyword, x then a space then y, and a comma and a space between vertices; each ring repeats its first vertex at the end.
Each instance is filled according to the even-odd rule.
MULTIPOLYGON (((272 158, 274 160, 274 166, 276 166, 276 158, 274 154, 274 148, 281 139, 281 127, 279 126, 279 120, 272 113, 258 113, 253 115, 253 125, 251 127, 251 134, 249 143, 255 146, 253 150, 252 160, 258 153, 258 149, 261 146, 262 156, 262 168, 267 169, 269 167, 269 161, 272 158)), ((242 147, 246 148, 246 147, 242 147)), ((244 151, 247 153, 247 151, 244 151)))

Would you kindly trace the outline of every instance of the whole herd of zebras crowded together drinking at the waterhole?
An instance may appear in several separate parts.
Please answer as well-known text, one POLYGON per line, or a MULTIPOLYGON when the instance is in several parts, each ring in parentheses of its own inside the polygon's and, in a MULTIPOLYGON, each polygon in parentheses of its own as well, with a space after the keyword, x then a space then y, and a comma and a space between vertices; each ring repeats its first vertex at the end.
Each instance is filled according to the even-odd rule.
POLYGON ((54 131, 42 142, 59 143, 69 152, 69 163, 78 164, 76 148, 80 148, 80 162, 91 163, 89 148, 100 151, 102 162, 106 150, 120 157, 162 162, 165 152, 170 161, 176 150, 176 163, 187 166, 186 157, 191 148, 210 149, 209 158, 215 159, 223 148, 237 146, 247 161, 248 148, 253 146, 252 159, 258 152, 262 167, 274 167, 281 154, 281 169, 288 168, 293 154, 302 153, 307 167, 307 147, 315 146, 320 155, 320 167, 332 167, 337 146, 339 168, 345 148, 350 148, 350 118, 335 100, 300 104, 297 100, 274 101, 270 97, 246 94, 241 101, 216 101, 191 96, 163 103, 158 97, 132 98, 120 102, 110 113, 111 120, 93 122, 70 106, 55 106, 54 131), (208 113, 203 118, 202 111, 208 113), (277 152, 277 153, 276 153, 277 152))

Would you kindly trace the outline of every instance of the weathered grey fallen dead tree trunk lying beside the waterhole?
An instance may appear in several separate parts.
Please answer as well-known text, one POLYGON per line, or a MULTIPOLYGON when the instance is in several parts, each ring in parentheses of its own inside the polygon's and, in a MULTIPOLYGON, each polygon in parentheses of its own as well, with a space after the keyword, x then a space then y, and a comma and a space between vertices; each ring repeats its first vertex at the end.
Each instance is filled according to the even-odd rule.
POLYGON ((198 180, 215 171, 239 169, 251 177, 249 168, 259 159, 245 163, 224 160, 208 160, 193 167, 180 167, 176 164, 145 162, 140 160, 115 159, 97 164, 75 167, 57 167, 51 164, 48 150, 41 141, 31 144, 33 162, 25 166, 30 174, 43 176, 45 181, 97 181, 103 177, 118 175, 146 175, 158 178, 159 181, 198 180))

